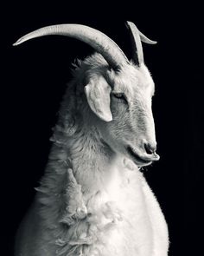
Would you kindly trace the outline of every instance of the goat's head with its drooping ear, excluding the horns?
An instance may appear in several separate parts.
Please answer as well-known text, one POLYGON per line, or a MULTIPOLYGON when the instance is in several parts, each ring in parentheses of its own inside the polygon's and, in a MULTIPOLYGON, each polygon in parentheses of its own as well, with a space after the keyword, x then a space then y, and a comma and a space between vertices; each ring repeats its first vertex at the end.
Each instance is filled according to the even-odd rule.
POLYGON ((144 64, 128 64, 96 77, 95 84, 89 82, 85 91, 92 111, 104 120, 98 123, 105 143, 139 167, 157 161, 151 111, 154 82, 149 70, 144 64))

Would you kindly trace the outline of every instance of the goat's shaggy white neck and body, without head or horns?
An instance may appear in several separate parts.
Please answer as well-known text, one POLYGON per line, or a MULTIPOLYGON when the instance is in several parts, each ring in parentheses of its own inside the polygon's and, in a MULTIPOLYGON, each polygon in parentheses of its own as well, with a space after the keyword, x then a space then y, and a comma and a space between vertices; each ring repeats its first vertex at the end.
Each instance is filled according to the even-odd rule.
POLYGON ((154 194, 137 165, 107 142, 108 124, 86 101, 84 81, 105 77, 104 70, 107 62, 95 54, 74 71, 16 256, 167 256, 167 225, 154 194))

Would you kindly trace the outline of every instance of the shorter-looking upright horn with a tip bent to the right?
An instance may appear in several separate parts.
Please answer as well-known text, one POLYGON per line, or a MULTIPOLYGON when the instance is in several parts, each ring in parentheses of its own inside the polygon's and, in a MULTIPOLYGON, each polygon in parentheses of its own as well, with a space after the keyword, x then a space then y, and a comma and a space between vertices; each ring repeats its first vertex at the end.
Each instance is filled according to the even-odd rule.
POLYGON ((150 40, 147 36, 144 36, 143 33, 137 29, 134 23, 127 22, 126 24, 131 33, 133 61, 140 65, 143 63, 143 46, 141 41, 149 44, 156 44, 157 42, 150 40))

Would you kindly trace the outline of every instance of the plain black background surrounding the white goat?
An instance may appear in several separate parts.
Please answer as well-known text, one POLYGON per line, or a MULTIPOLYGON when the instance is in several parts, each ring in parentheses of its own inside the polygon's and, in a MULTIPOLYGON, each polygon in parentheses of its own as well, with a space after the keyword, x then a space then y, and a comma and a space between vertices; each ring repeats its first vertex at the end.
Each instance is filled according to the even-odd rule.
MULTIPOLYGON (((164 3, 165 2, 165 3, 164 3)), ((131 44, 124 21, 137 24, 157 45, 143 45, 156 83, 153 112, 161 160, 144 170, 169 225, 169 255, 200 255, 203 150, 203 29, 201 6, 49 2, 8 3, 1 41, 3 255, 12 255, 16 228, 33 200, 48 159, 71 62, 92 53, 85 43, 61 36, 38 38, 18 47, 24 34, 55 23, 83 23, 105 32, 127 56, 131 44)), ((1 253, 2 253, 1 249, 1 253)))

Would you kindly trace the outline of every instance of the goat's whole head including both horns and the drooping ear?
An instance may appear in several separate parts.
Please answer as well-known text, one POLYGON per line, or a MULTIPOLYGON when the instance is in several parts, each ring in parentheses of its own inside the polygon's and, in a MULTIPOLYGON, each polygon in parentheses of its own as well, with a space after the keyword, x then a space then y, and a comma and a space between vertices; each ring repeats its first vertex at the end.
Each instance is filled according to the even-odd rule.
POLYGON ((39 36, 71 36, 88 43, 103 56, 105 64, 100 66, 99 62, 94 62, 89 69, 90 76, 86 77, 87 102, 99 120, 103 120, 99 122, 99 129, 106 143, 131 158, 138 166, 143 166, 159 159, 151 112, 154 83, 143 63, 141 43, 156 42, 144 36, 134 23, 127 22, 126 25, 131 33, 132 58, 136 65, 129 62, 111 38, 80 24, 41 28, 22 36, 14 45, 39 36), (107 65, 111 70, 106 69, 107 65), (96 69, 93 70, 94 67, 96 69))

